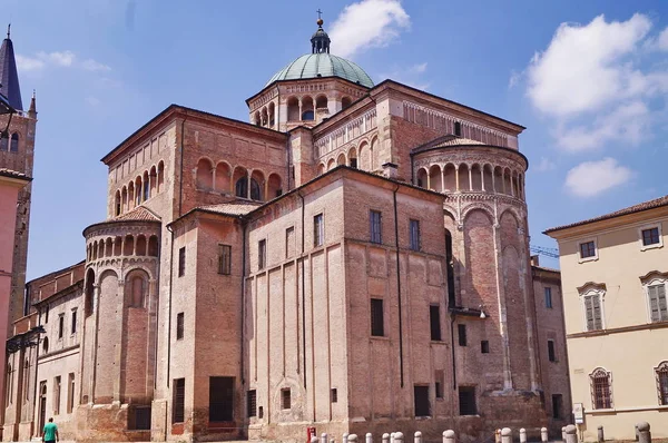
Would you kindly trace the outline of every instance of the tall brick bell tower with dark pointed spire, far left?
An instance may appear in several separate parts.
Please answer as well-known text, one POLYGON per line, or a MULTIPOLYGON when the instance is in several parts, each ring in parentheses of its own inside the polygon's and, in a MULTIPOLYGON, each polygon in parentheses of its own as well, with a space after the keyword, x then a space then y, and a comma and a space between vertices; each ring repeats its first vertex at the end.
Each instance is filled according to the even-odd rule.
MULTIPOLYGON (((0 169, 4 168, 32 177, 37 126, 36 96, 33 92, 28 111, 23 110, 10 26, 7 28, 7 38, 0 46, 0 93, 8 98, 16 112, 0 118, 0 169)), ((9 328, 13 321, 26 315, 30 308, 30 304, 23 299, 23 294, 31 196, 32 186, 28 184, 21 189, 18 197, 9 328)), ((9 332, 11 333, 11 331, 9 332)))

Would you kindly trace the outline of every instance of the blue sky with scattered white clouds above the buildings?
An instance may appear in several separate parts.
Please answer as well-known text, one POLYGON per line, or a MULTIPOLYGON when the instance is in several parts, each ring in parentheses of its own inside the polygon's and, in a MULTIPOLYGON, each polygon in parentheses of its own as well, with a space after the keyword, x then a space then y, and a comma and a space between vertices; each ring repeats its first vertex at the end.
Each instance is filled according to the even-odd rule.
POLYGON ((247 121, 244 100, 310 52, 318 8, 332 53, 375 82, 527 127, 532 245, 668 194, 667 2, 2 0, 39 112, 28 278, 85 258, 102 156, 170 104, 247 121))

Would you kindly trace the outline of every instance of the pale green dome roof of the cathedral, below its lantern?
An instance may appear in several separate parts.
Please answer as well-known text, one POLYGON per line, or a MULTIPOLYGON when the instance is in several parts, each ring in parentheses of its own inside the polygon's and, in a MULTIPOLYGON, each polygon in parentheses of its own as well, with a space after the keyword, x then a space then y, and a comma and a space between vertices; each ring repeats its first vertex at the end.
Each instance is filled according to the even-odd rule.
POLYGON ((320 77, 340 77, 366 88, 373 88, 373 80, 356 63, 327 52, 306 53, 276 72, 267 82, 277 80, 299 80, 320 77))

